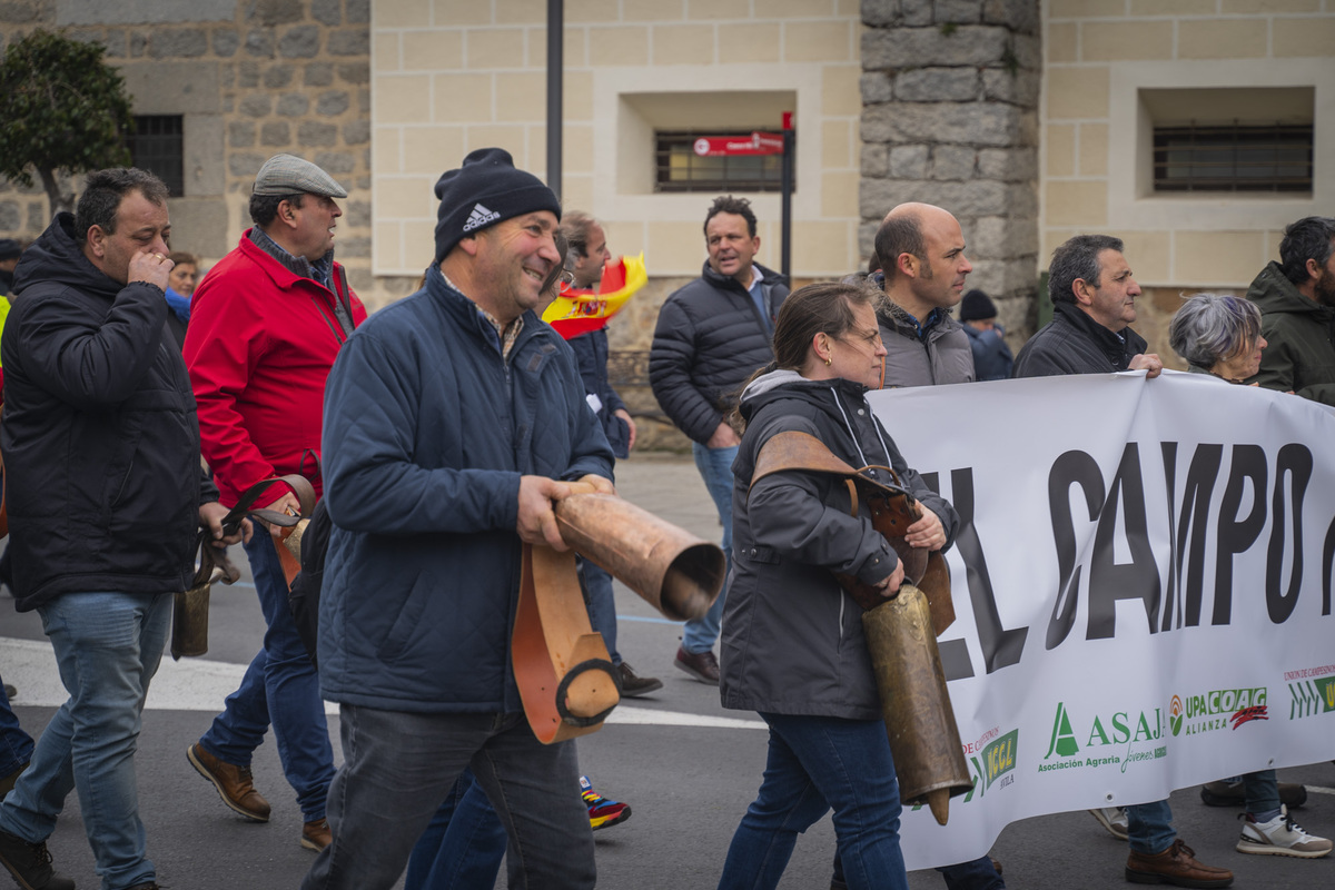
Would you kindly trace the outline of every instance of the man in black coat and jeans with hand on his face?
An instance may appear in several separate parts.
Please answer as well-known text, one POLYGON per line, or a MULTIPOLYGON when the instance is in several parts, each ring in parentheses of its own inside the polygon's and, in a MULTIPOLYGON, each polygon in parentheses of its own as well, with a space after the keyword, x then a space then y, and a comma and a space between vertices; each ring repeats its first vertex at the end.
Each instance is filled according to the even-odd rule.
POLYGON ((21 886, 75 886, 52 871, 45 841, 77 786, 103 886, 158 887, 134 761, 144 695, 198 528, 218 546, 240 539, 223 534, 166 327, 170 230, 162 180, 99 171, 15 275, 0 340, 12 587, 20 611, 41 612, 69 690, 0 805, 0 863, 21 886))

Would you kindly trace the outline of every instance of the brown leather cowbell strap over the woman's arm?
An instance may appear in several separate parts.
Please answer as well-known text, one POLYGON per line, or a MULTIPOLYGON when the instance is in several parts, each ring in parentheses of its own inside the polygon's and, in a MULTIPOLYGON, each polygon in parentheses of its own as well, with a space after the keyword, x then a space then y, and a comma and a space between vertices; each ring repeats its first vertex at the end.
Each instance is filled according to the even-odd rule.
MULTIPOLYGON (((790 430, 772 436, 761 446, 760 454, 756 455, 756 471, 752 474, 750 484, 754 487, 765 476, 782 471, 818 472, 842 479, 848 486, 852 515, 858 514, 860 499, 866 503, 872 527, 885 538, 904 564, 904 580, 926 595, 932 608, 932 627, 940 636, 955 623, 951 572, 945 558, 937 551, 913 547, 904 539, 908 527, 922 516, 922 506, 898 484, 886 484, 866 475, 869 470, 885 472, 896 483, 898 482, 898 475, 890 467, 868 466, 854 470, 816 436, 790 430)), ((872 584, 853 575, 832 574, 864 610, 876 608, 885 602, 885 596, 872 584)))

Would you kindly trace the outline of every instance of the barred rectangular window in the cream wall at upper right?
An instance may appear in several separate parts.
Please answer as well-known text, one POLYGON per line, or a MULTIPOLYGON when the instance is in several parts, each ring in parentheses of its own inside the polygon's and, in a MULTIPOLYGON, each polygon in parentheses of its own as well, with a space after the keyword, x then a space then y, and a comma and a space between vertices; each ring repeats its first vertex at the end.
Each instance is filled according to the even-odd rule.
POLYGON ((1312 191, 1311 124, 1155 127, 1156 192, 1312 191))

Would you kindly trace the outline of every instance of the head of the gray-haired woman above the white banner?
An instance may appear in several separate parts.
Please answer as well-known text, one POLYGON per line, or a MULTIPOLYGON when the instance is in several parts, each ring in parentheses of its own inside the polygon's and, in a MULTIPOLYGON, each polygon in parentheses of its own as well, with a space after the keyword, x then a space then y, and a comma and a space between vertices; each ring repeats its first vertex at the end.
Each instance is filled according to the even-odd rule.
POLYGON ((1189 372, 1242 383, 1260 370, 1260 310, 1240 296, 1193 294, 1172 316, 1168 343, 1189 372))

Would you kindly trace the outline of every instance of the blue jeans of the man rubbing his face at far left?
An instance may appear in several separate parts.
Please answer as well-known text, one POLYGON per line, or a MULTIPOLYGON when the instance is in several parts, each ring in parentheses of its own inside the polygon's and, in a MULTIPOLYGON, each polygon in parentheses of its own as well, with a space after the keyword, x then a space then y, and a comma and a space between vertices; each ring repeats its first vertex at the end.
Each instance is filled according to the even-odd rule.
POLYGON ((171 627, 171 596, 63 594, 37 607, 69 701, 0 805, 0 830, 45 841, 72 789, 104 890, 154 879, 139 819, 135 749, 148 682, 171 627))

